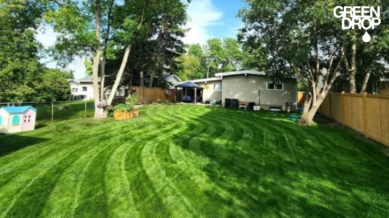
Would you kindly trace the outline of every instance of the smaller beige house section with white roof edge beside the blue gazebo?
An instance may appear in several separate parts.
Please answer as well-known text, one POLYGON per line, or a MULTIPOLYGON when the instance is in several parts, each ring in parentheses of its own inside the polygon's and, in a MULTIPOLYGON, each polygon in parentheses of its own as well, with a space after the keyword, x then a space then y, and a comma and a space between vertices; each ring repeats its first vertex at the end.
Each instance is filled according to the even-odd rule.
POLYGON ((222 99, 222 79, 213 77, 205 79, 190 80, 191 82, 203 87, 202 100, 207 101, 220 101, 222 99))

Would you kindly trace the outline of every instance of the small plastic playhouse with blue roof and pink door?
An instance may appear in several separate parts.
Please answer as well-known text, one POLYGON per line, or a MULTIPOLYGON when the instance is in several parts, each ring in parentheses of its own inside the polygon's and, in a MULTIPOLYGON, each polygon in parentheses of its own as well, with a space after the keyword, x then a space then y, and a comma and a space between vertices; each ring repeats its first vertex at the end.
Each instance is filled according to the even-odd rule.
POLYGON ((32 106, 0 108, 0 133, 25 132, 35 129, 36 109, 32 106))

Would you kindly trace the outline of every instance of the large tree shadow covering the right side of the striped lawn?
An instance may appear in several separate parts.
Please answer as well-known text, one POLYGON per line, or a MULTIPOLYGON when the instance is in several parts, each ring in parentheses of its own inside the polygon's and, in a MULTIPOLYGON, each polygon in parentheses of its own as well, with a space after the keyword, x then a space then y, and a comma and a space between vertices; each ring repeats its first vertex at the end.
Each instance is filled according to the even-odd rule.
POLYGON ((389 158, 378 143, 287 116, 212 109, 174 140, 208 159, 202 171, 227 194, 205 194, 215 207, 230 208, 228 217, 389 216, 389 158))

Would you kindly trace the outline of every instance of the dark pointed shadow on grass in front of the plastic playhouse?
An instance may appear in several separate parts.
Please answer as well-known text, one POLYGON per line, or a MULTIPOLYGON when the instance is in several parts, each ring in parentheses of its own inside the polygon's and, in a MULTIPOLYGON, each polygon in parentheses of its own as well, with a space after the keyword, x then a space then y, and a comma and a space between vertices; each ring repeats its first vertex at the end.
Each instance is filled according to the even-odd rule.
POLYGON ((0 157, 2 157, 16 152, 22 148, 48 141, 48 139, 30 136, 0 134, 0 141, 0 157))

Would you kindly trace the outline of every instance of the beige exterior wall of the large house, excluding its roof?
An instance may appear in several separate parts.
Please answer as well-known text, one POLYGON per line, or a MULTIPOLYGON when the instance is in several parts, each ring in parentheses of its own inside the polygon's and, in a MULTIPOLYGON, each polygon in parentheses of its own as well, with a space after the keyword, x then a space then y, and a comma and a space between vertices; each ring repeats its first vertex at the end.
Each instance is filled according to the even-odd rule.
POLYGON ((288 79, 283 83, 283 90, 266 90, 266 82, 270 78, 258 75, 236 75, 223 78, 223 103, 225 98, 238 98, 241 101, 258 103, 258 89, 261 89, 261 108, 270 106, 282 107, 285 102, 292 102, 292 109, 296 108, 297 81, 288 79))

